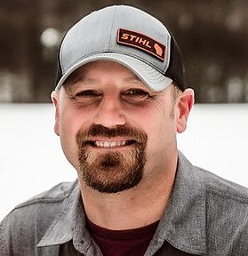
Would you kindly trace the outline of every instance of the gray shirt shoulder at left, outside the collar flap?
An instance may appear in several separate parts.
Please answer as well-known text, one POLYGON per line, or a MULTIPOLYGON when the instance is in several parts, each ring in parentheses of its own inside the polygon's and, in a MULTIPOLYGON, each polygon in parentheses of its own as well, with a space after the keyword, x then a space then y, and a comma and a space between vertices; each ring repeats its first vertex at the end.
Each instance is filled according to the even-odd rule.
MULTIPOLYGON (((25 241, 28 244, 36 244, 43 236, 44 230, 51 225, 52 220, 63 211, 64 202, 75 185, 76 182, 60 183, 17 205, 0 223, 1 250, 10 250, 10 248, 15 250, 19 247, 16 246, 17 244, 25 244, 25 241)), ((6 252, 6 255, 9 255, 8 253, 6 252)))

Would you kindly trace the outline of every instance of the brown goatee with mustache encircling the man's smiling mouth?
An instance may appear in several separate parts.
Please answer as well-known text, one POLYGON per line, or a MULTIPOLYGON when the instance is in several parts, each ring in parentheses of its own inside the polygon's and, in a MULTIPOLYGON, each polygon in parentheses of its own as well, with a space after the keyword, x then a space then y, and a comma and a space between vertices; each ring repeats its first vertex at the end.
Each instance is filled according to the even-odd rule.
POLYGON ((134 188, 142 180, 146 163, 145 132, 128 126, 108 129, 100 124, 94 124, 87 131, 79 131, 76 142, 79 161, 78 178, 87 186, 101 193, 117 193, 134 188), (105 138, 124 136, 131 140, 128 140, 130 145, 124 146, 123 151, 109 148, 108 152, 100 153, 90 149, 95 147, 94 142, 87 138, 94 136, 105 138))

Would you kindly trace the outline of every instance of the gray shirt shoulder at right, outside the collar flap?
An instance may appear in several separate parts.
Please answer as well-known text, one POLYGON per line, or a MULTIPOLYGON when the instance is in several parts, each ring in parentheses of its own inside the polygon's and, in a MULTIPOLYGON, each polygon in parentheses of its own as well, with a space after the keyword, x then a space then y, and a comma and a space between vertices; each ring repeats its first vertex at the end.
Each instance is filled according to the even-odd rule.
POLYGON ((205 189, 206 234, 215 248, 212 250, 219 248, 223 255, 234 252, 246 255, 248 188, 201 168, 194 167, 194 170, 205 189))

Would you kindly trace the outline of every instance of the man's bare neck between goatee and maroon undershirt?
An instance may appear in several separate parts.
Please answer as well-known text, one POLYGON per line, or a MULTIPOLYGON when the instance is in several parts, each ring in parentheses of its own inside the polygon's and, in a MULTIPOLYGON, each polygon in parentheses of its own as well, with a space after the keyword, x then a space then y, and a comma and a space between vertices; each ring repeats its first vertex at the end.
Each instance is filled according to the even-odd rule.
POLYGON ((112 230, 140 228, 160 220, 172 193, 176 165, 177 157, 171 170, 151 171, 135 188, 116 194, 100 193, 79 180, 87 218, 112 230))

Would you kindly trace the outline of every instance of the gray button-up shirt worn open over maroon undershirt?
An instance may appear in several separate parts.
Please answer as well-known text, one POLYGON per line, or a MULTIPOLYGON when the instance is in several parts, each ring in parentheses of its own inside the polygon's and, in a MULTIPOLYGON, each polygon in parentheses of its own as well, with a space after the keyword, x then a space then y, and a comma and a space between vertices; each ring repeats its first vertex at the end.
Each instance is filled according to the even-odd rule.
MULTIPOLYGON (((85 228, 77 181, 17 206, 0 224, 1 256, 102 255, 85 228)), ((180 153, 170 202, 148 255, 248 255, 248 189, 180 153)))

